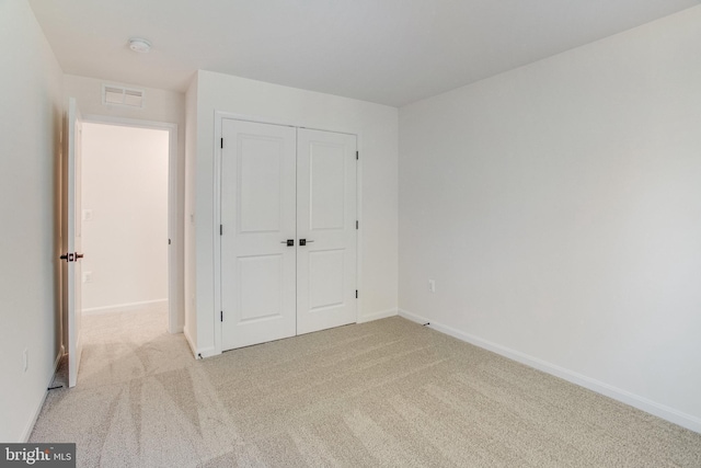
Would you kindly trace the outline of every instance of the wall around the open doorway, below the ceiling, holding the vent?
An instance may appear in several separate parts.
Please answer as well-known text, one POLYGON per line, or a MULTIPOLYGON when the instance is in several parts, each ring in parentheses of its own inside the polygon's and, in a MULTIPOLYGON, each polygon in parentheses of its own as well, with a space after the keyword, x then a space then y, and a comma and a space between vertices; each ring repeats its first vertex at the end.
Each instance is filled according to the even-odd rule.
POLYGON ((95 79, 64 76, 64 95, 76 98, 78 107, 84 117, 99 116, 111 118, 129 118, 137 121, 150 121, 177 125, 177 163, 176 163, 176 206, 175 206, 175 232, 172 236, 172 249, 176 252, 175 304, 170 305, 176 309, 177 320, 174 329, 183 330, 184 326, 184 204, 185 204, 185 94, 174 91, 165 91, 156 88, 145 88, 133 83, 120 83, 107 79, 95 79), (145 106, 142 109, 119 105, 105 105, 102 103, 102 84, 116 84, 127 88, 137 88, 145 91, 145 106))

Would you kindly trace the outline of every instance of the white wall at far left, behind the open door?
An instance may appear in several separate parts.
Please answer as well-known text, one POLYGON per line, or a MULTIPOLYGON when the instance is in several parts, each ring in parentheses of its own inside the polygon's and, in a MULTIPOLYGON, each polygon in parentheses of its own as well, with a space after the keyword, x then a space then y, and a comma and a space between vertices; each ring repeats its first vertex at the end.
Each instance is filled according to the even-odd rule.
POLYGON ((64 113, 61 69, 24 0, 0 2, 0 441, 21 442, 60 352, 64 113))

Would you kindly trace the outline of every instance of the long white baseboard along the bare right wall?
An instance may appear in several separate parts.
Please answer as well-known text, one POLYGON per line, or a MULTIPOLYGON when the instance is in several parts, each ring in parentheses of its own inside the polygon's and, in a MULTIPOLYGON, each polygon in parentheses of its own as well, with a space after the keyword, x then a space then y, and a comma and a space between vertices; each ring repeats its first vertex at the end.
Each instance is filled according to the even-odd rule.
POLYGON ((697 418, 694 415, 683 413, 674 408, 657 403, 647 398, 641 397, 635 393, 631 393, 630 391, 622 390, 609 384, 602 383, 600 380, 596 380, 594 378, 575 373, 564 367, 560 367, 547 361, 539 359, 533 356, 529 356, 519 351, 515 351, 509 347, 502 346, 501 344, 496 344, 491 341, 483 340, 479 336, 464 333, 458 329, 445 326, 443 323, 435 322, 430 319, 418 316, 416 313, 412 313, 406 310, 400 309, 399 315, 400 317, 403 317, 407 320, 411 320, 421 324, 430 322, 428 327, 441 333, 446 333, 450 336, 457 338, 458 340, 466 341, 470 344, 474 344, 475 346, 492 351, 512 361, 516 361, 529 367, 533 367, 538 370, 542 370, 547 374, 553 375, 555 377, 560 377, 572 384, 596 391, 597 393, 605 395, 609 398, 612 398, 614 400, 618 400, 631 407, 637 408, 639 410, 645 411, 650 414, 654 414, 658 418, 662 418, 666 421, 678 424, 688 430, 701 433, 701 418, 697 418))

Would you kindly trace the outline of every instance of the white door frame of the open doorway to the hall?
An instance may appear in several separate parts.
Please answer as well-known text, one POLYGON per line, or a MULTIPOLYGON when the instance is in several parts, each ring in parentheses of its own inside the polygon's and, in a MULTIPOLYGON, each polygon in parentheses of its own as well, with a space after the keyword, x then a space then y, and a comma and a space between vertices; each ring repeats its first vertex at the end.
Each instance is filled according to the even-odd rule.
POLYGON ((181 250, 181 239, 177 237, 177 124, 108 115, 84 115, 83 122, 168 132, 168 238, 171 241, 168 249, 168 331, 181 333, 183 331, 182 326, 179 326, 181 307, 175 294, 177 292, 177 252, 181 250))

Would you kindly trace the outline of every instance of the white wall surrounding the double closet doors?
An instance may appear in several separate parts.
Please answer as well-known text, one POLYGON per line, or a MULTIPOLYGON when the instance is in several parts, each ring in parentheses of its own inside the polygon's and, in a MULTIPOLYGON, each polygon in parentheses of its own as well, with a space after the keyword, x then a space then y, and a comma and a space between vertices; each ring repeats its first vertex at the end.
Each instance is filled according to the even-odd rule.
MULTIPOLYGON (((360 151, 360 320, 397 313, 398 111, 368 102, 199 71, 195 161, 196 347, 215 347, 215 111, 358 134, 360 151)), ((194 155, 192 155, 194 156, 194 155)))

